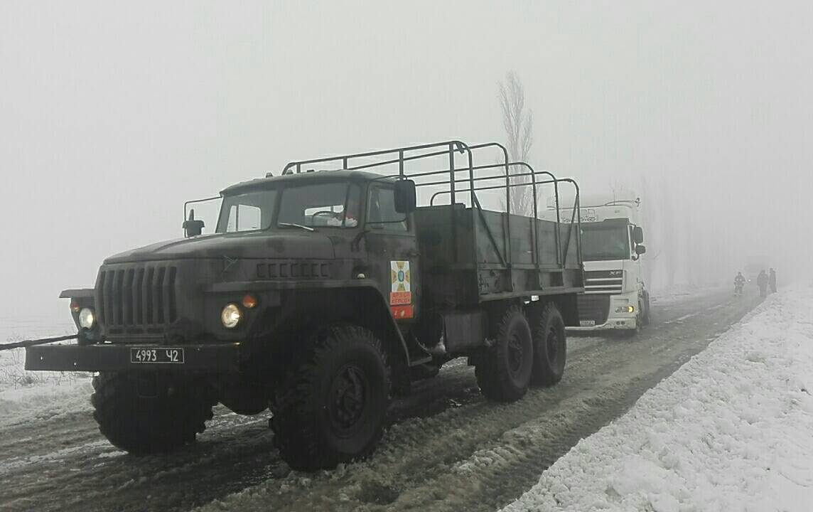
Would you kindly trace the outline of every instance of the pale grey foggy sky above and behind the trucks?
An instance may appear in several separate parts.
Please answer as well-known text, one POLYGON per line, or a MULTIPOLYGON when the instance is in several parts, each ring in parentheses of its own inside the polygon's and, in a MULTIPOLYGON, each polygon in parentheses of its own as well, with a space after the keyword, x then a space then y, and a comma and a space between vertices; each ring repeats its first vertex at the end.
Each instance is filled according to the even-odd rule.
POLYGON ((807 272, 811 2, 338 3, 0 3, 3 311, 289 160, 502 140, 509 71, 535 167, 641 195, 650 287, 807 272))

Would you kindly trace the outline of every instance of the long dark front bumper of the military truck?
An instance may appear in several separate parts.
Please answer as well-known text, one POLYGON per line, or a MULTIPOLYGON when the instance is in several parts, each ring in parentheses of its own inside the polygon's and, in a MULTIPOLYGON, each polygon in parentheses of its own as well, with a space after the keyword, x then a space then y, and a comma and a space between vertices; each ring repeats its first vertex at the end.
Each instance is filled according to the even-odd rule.
POLYGON ((135 371, 159 370, 226 374, 236 372, 240 362, 240 344, 145 345, 92 344, 40 345, 25 349, 26 370, 51 371, 135 371), (131 361, 130 349, 167 350, 183 348, 184 362, 141 363, 131 361))

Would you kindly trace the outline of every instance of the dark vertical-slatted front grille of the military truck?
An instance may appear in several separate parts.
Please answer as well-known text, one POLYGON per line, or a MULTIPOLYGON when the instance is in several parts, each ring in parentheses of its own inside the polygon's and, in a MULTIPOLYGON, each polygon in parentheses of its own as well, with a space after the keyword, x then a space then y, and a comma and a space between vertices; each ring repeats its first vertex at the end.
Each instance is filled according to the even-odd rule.
POLYGON ((96 282, 98 320, 108 335, 159 334, 175 322, 175 265, 102 267, 96 282))

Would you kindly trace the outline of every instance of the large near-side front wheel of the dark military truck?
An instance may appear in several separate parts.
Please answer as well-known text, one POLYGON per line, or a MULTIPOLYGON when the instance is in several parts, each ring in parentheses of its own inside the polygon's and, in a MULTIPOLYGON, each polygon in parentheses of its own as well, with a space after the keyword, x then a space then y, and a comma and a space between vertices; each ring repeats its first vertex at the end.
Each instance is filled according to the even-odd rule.
POLYGON ((383 432, 389 392, 386 354, 370 330, 318 330, 275 390, 272 429, 280 455, 296 470, 367 457, 383 432))

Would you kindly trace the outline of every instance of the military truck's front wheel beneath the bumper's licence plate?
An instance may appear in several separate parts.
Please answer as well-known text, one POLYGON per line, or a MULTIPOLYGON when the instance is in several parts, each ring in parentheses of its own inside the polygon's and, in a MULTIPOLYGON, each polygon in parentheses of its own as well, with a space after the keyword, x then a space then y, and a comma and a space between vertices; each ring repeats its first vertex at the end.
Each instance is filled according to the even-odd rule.
POLYGON ((138 383, 136 374, 93 377, 93 419, 111 444, 136 455, 164 453, 192 443, 206 429, 215 400, 204 387, 161 386, 155 396, 141 396, 138 383))

